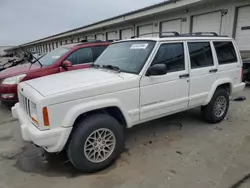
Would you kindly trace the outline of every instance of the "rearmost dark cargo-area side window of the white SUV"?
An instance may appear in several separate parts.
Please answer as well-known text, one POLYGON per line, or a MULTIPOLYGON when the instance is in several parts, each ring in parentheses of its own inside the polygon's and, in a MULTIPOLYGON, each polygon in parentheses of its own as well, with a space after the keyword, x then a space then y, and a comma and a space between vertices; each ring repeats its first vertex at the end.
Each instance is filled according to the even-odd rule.
POLYGON ((237 56, 232 42, 214 42, 214 47, 220 65, 237 62, 237 56))

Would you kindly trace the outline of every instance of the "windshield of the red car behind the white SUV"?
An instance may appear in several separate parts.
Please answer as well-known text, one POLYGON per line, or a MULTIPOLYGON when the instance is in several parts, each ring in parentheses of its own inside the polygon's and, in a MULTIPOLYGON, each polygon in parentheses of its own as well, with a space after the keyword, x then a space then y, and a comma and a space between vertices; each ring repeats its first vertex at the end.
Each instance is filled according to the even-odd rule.
POLYGON ((59 47, 39 59, 39 62, 43 66, 49 66, 55 63, 60 57, 66 54, 70 49, 65 47, 59 47))

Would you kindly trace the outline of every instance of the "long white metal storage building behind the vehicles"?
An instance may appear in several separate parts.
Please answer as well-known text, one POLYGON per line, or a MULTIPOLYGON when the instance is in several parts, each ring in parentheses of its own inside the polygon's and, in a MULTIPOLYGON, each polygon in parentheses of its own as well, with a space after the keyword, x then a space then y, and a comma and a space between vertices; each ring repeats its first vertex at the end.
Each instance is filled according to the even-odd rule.
POLYGON ((48 52, 82 39, 119 40, 164 31, 228 35, 236 39, 243 57, 249 57, 250 0, 169 0, 22 46, 35 52, 48 52))

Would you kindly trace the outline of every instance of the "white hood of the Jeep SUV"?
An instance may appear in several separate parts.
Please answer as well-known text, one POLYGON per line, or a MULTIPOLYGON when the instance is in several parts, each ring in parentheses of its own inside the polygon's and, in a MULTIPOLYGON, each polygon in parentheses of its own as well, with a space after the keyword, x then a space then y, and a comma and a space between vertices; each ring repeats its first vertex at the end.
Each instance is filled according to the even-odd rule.
POLYGON ((33 87, 41 95, 48 96, 79 88, 103 86, 105 83, 117 82, 123 80, 124 77, 131 76, 133 75, 128 73, 88 68, 28 80, 25 83, 33 87))

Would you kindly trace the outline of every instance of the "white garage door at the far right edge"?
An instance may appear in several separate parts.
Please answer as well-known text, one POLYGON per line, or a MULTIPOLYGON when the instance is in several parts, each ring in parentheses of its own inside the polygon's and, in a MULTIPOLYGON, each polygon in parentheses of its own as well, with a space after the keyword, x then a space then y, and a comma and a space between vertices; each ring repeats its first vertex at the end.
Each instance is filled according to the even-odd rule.
POLYGON ((250 50, 250 6, 238 9, 235 39, 240 50, 250 50))

